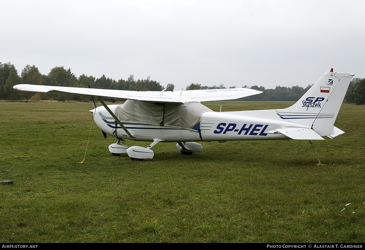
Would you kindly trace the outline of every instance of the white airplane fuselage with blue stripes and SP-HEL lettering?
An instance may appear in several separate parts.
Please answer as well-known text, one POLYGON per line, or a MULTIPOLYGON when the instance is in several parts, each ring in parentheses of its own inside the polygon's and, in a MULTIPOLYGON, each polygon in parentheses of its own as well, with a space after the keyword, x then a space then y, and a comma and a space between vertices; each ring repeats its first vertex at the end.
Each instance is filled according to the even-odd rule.
MULTIPOLYGON (((114 111, 117 105, 108 105, 114 111)), ((273 113, 274 110, 265 110, 273 113)), ((249 114, 249 113, 247 113, 249 114)), ((124 130, 116 124, 107 110, 100 106, 94 116, 96 124, 105 133, 118 138, 128 139, 124 130)), ((295 127, 286 121, 245 116, 245 112, 205 112, 201 117, 200 131, 159 126, 142 123, 123 122, 135 141, 154 141, 160 138, 165 142, 179 141, 242 141, 242 140, 281 140, 289 139, 283 134, 268 133, 283 126, 295 127)), ((303 125, 301 125, 303 127, 303 125)))

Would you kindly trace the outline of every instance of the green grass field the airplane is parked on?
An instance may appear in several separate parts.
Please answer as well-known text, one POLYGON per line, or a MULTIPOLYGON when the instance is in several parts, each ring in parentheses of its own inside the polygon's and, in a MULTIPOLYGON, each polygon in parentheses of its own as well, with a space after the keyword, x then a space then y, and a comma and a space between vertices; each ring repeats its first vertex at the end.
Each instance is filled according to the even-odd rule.
MULTIPOLYGON (((291 103, 212 102, 215 111, 291 103)), ((365 106, 334 139, 202 142, 112 156, 91 103, 0 103, 0 242, 365 242, 365 106), (323 165, 317 165, 318 159, 323 165)), ((149 142, 127 141, 146 147, 149 142)))

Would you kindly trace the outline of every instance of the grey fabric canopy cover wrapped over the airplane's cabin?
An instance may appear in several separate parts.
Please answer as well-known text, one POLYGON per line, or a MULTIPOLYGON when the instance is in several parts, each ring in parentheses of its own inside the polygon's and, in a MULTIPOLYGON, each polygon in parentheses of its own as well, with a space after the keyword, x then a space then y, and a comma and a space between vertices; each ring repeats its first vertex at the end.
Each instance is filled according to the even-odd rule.
POLYGON ((121 122, 164 125, 189 130, 199 130, 201 115, 212 111, 200 102, 151 103, 127 100, 115 108, 115 115, 121 122))

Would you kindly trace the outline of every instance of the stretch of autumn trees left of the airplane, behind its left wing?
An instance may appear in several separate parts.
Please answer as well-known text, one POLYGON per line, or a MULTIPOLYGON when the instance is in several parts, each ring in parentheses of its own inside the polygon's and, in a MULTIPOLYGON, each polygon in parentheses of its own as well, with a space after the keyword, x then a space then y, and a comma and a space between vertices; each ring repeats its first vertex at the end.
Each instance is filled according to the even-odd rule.
MULTIPOLYGON (((153 81, 150 77, 146 79, 134 79, 134 75, 130 75, 127 80, 107 78, 103 75, 95 78, 92 75, 85 74, 76 77, 71 69, 66 70, 63 66, 54 67, 47 75, 39 72, 38 68, 30 65, 24 67, 20 75, 15 66, 10 62, 0 62, 0 99, 3 100, 57 100, 57 101, 90 101, 90 97, 69 94, 53 94, 53 93, 34 93, 26 91, 16 91, 13 86, 16 84, 35 84, 35 85, 51 85, 51 86, 67 86, 67 87, 91 87, 97 89, 116 89, 116 90, 139 90, 139 91, 162 91, 164 86, 160 82, 153 81)), ((169 85, 169 90, 174 89, 174 85, 169 85)))

